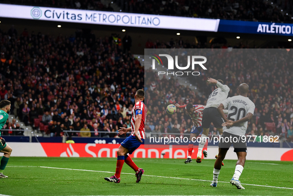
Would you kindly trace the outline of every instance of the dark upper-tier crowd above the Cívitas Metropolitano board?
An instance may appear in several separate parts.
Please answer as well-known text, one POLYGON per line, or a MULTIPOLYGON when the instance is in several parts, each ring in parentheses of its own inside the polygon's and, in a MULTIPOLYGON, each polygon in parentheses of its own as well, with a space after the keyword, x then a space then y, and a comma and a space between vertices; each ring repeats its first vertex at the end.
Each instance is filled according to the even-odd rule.
POLYGON ((273 0, 273 2, 265 0, 113 0, 108 5, 100 0, 1 0, 0 2, 103 11, 114 11, 111 4, 116 3, 120 11, 131 13, 230 20, 293 21, 288 14, 292 13, 293 7, 289 0, 273 0))

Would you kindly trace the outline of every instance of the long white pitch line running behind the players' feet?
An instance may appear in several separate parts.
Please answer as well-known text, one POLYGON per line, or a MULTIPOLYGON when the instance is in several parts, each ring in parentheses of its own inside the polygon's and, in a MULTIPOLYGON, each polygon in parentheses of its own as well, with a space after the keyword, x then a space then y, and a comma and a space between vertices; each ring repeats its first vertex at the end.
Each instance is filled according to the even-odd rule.
MULTIPOLYGON (((58 168, 58 167, 44 167, 39 166, 41 168, 49 168, 49 169, 61 169, 61 170, 74 170, 74 171, 87 171, 87 172, 101 172, 101 173, 114 173, 114 172, 106 172, 106 171, 96 171, 96 170, 82 170, 82 169, 70 169, 70 168, 58 168)), ((121 174, 129 174, 133 175, 131 173, 121 173, 121 174)), ((177 178, 177 177, 167 177, 167 176, 154 176, 154 175, 144 175, 144 176, 150 176, 150 177, 158 177, 158 178, 172 178, 172 179, 180 179, 180 180, 194 180, 194 181, 203 181, 203 182, 211 182, 210 180, 199 180, 199 179, 189 179, 189 178, 177 178)), ((230 182, 221 182, 220 183, 230 183, 230 182)), ((273 187, 273 186, 266 186, 266 185, 253 185, 253 184, 244 184, 242 185, 249 185, 249 186, 257 186, 257 187, 269 187, 269 188, 277 188, 277 189, 291 189, 293 188, 287 188, 287 187, 273 187)))

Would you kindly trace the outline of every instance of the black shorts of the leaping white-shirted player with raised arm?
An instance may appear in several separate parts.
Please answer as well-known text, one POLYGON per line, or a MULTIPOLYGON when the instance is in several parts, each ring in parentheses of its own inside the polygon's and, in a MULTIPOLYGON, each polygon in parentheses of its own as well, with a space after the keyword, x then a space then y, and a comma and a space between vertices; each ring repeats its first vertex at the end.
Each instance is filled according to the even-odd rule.
POLYGON ((211 123, 214 124, 215 128, 223 128, 222 124, 224 120, 220 116, 217 108, 205 108, 202 114, 202 127, 209 129, 211 123))

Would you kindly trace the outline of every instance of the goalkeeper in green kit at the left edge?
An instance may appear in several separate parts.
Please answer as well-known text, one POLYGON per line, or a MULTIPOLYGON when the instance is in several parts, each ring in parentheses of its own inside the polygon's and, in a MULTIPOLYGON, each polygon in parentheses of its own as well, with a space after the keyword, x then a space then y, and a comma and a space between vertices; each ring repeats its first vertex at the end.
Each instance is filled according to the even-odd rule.
MULTIPOLYGON (((10 101, 2 100, 0 102, 0 130, 3 128, 3 126, 5 125, 8 119, 8 113, 10 112, 10 107, 11 107, 10 101)), ((5 140, 1 137, 1 132, 0 132, 0 152, 4 153, 0 161, 0 178, 8 178, 8 176, 3 175, 3 170, 5 169, 8 163, 12 149, 9 145, 5 143, 5 140)))

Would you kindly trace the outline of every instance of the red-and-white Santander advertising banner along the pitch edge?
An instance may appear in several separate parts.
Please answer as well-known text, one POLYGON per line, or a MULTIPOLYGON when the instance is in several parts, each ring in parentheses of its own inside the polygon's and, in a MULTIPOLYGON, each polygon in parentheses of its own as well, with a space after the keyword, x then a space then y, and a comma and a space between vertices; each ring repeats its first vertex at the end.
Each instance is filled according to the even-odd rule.
MULTIPOLYGON (((13 151, 11 156, 35 156, 35 157, 117 157, 120 144, 96 144, 96 143, 25 143, 9 142, 13 151), (31 150, 34 149, 34 150, 31 150)), ((217 146, 208 146, 207 159, 214 159, 218 153, 217 146)), ((197 147, 193 148, 197 153, 197 147)), ((131 154, 134 158, 181 158, 187 157, 186 146, 172 145, 141 145, 131 154), (164 154, 164 155, 163 155, 164 154)), ((226 159, 237 159, 231 148, 226 159)), ((268 161, 293 161, 292 148, 247 147, 247 160, 268 161), (270 152, 270 155, 267 153, 270 152)))

